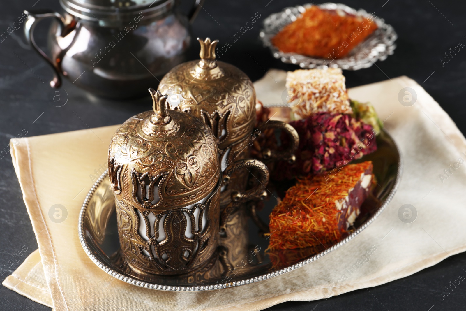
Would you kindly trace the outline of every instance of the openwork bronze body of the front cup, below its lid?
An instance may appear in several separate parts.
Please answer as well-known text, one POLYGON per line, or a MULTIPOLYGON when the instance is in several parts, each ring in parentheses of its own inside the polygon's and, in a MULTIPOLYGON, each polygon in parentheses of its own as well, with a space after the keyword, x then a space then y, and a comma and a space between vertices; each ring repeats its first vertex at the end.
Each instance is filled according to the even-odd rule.
POLYGON ((180 274, 212 256, 218 243, 219 184, 201 202, 160 214, 116 202, 120 246, 133 270, 180 274))

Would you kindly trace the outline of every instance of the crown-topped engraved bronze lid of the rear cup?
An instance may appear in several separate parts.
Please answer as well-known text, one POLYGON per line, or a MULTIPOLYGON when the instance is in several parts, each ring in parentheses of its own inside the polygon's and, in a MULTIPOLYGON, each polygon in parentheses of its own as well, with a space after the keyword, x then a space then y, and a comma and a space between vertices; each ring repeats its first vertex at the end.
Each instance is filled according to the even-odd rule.
POLYGON ((255 122, 256 95, 249 77, 237 67, 216 60, 218 40, 200 43, 200 60, 171 69, 158 86, 169 95, 172 109, 190 112, 219 138, 219 149, 251 133, 255 122))

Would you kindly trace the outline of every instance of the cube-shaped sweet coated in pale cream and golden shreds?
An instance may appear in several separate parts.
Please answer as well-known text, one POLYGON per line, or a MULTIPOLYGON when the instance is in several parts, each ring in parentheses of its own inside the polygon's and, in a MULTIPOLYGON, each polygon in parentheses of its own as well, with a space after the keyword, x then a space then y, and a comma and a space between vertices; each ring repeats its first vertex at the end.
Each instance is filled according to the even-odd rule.
POLYGON ((352 113, 342 69, 288 71, 289 106, 298 118, 317 112, 352 113))

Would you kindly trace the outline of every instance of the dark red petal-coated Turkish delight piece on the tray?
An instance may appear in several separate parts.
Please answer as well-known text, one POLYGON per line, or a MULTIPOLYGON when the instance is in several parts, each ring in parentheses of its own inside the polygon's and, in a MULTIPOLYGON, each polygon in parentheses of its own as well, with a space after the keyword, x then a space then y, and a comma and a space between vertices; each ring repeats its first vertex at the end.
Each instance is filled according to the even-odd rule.
MULTIPOLYGON (((318 113, 290 124, 299 135, 296 161, 278 162, 271 173, 274 180, 328 173, 377 150, 373 127, 348 114, 318 113)), ((285 139, 281 139, 283 147, 285 139)))

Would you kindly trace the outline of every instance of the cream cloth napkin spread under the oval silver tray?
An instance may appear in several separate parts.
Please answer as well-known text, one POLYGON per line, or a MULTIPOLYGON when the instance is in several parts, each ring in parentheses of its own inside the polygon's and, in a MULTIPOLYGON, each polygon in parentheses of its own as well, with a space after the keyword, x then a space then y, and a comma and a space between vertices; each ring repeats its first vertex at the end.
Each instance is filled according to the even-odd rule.
MULTIPOLYGON (((282 72, 270 71, 255 85, 259 99, 281 102, 282 72)), ((150 290, 109 276, 82 250, 77 220, 93 183, 89 175, 95 176, 106 166, 110 137, 117 128, 110 126, 22 138, 19 145, 12 144, 14 167, 39 250, 3 285, 55 311, 248 311, 387 283, 465 251, 466 164, 458 163, 459 158, 466 160, 461 154, 466 152, 466 140, 451 118, 407 77, 356 87, 349 94, 374 104, 400 148, 404 172, 386 210, 334 252, 268 280, 210 292, 150 290), (417 94, 411 107, 398 101, 405 87, 417 94), (455 166, 459 167, 451 169, 455 166), (440 179, 440 174, 446 177, 445 169, 450 174, 440 179), (68 211, 61 223, 48 217, 55 204, 68 211), (398 210, 404 204, 416 208, 414 222, 399 219, 398 210)))

